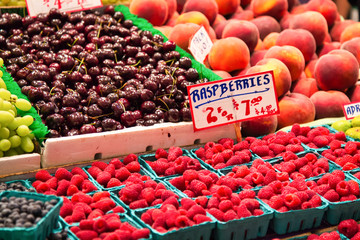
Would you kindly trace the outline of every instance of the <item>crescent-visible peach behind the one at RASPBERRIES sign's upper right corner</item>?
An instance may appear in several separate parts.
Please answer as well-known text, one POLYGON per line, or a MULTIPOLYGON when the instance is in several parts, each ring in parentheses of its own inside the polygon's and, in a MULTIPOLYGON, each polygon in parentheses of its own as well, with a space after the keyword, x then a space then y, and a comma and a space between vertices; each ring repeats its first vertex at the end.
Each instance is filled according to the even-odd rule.
POLYGON ((264 58, 276 58, 283 62, 290 71, 292 81, 297 80, 305 69, 304 56, 294 46, 273 46, 264 58))

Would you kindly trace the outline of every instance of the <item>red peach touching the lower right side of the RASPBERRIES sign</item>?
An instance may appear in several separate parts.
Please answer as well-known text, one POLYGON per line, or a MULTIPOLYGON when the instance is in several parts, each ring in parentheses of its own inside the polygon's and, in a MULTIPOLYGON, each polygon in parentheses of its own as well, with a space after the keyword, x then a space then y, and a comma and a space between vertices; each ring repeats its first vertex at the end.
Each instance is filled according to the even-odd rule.
POLYGON ((315 119, 315 106, 310 98, 300 93, 288 93, 279 101, 278 129, 294 123, 307 123, 315 119))

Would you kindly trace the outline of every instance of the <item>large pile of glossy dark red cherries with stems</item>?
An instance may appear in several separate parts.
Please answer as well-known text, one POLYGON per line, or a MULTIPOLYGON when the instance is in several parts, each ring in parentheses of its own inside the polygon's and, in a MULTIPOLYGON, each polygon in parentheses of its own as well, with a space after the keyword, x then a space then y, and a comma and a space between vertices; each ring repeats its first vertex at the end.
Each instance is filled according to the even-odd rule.
POLYGON ((175 47, 113 7, 0 16, 0 57, 48 137, 191 121, 186 87, 207 80, 175 47))

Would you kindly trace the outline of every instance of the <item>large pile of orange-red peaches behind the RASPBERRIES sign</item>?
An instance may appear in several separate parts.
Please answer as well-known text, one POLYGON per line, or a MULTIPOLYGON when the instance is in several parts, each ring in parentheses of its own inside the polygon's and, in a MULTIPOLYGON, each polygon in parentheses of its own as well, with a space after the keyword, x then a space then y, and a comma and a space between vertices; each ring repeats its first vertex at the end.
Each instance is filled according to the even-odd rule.
POLYGON ((203 26, 205 65, 223 78, 274 71, 280 115, 243 122, 244 135, 341 117, 360 101, 360 23, 331 0, 133 0, 130 11, 186 51, 203 26))

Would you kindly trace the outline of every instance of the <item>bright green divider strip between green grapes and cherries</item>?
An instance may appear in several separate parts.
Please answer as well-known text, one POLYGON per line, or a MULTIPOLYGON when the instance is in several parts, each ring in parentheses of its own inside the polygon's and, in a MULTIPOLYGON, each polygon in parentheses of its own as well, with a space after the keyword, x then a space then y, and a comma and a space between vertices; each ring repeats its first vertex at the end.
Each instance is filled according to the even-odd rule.
MULTIPOLYGON (((2 79, 4 80, 7 89, 12 94, 18 96, 18 98, 22 98, 29 101, 29 99, 21 92, 19 85, 17 85, 17 83, 11 77, 10 73, 6 71, 5 66, 0 67, 0 71, 3 72, 2 79)), ((30 115, 34 118, 34 122, 30 125, 29 128, 32 130, 32 133, 35 135, 36 139, 40 142, 40 144, 42 144, 49 130, 47 126, 45 126, 42 123, 41 117, 37 113, 36 109, 34 107, 31 107, 31 109, 27 112, 18 109, 18 115, 20 116, 30 115)))

